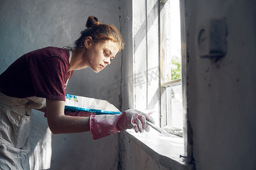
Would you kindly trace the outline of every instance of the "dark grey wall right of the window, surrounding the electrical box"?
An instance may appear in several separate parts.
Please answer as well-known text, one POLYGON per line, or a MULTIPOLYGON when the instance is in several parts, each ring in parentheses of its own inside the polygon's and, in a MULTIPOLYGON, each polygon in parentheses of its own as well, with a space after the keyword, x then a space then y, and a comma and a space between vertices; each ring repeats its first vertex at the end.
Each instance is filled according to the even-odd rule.
POLYGON ((255 169, 255 1, 187 1, 185 14, 192 161, 196 169, 255 169), (226 33, 213 32, 226 41, 226 55, 217 61, 200 57, 211 37, 200 32, 210 32, 213 19, 226 24, 226 33))

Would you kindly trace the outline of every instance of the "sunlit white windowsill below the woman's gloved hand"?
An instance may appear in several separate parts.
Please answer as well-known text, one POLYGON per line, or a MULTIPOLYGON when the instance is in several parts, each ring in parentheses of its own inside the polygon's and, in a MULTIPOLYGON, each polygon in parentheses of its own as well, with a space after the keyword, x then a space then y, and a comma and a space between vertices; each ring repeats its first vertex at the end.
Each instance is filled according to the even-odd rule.
POLYGON ((184 159, 180 157, 184 155, 183 138, 172 134, 167 137, 152 128, 148 133, 135 133, 133 129, 128 129, 125 135, 164 167, 187 169, 184 159))

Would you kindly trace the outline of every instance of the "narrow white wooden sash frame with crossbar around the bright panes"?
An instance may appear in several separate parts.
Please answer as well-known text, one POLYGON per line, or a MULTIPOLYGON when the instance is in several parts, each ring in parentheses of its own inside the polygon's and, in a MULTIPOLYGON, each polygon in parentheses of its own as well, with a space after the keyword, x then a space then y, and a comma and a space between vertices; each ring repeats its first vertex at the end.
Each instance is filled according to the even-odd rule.
MULTIPOLYGON (((170 1, 170 0, 169 0, 170 1)), ((183 137, 183 129, 176 128, 172 126, 172 115, 171 115, 171 108, 168 107, 168 103, 170 103, 171 99, 168 98, 167 94, 167 88, 171 88, 172 86, 175 86, 177 83, 180 83, 181 87, 182 80, 175 79, 171 80, 171 77, 168 75, 171 75, 171 61, 166 61, 167 59, 170 59, 170 57, 167 56, 167 27, 166 27, 166 20, 167 20, 167 6, 166 2, 168 0, 162 0, 159 4, 159 46, 160 46, 160 53, 159 53, 159 71, 160 71, 160 127, 166 130, 168 133, 178 135, 179 137, 183 137), (168 112, 170 111, 170 112, 168 112)), ((184 127, 184 122, 183 122, 184 127)))

